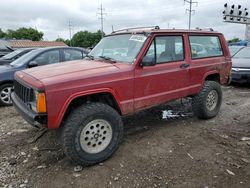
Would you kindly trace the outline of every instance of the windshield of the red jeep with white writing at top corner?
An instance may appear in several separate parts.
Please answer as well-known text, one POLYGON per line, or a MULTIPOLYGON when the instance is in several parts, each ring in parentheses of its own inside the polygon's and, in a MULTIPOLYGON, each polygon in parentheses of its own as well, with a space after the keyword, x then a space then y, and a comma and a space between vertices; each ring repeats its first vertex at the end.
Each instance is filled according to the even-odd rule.
POLYGON ((103 38, 89 53, 93 58, 112 59, 117 62, 133 63, 142 48, 146 36, 122 34, 103 38))

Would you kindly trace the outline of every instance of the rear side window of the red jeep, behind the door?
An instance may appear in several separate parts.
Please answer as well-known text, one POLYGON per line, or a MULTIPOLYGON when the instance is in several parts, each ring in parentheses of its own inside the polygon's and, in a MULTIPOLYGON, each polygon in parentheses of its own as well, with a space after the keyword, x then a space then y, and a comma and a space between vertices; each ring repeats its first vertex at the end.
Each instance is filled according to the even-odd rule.
POLYGON ((222 56, 217 36, 189 36, 192 59, 222 56))

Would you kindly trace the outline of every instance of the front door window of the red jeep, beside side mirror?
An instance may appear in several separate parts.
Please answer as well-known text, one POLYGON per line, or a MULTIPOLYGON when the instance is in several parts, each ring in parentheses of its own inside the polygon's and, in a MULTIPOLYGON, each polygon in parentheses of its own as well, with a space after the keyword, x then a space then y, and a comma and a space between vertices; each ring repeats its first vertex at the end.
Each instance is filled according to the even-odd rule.
POLYGON ((184 60, 183 39, 181 36, 155 37, 147 58, 155 58, 156 63, 167 63, 184 60))

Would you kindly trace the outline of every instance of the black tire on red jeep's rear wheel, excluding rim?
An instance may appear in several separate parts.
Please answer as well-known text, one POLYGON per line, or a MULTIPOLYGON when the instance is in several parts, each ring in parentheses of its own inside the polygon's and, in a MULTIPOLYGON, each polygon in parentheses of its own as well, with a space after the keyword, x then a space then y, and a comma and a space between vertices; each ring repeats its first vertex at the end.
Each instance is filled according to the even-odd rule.
POLYGON ((196 115, 200 119, 213 118, 218 114, 221 107, 221 103, 222 103, 222 90, 220 84, 215 81, 205 81, 199 94, 194 96, 192 99, 192 107, 194 115, 196 115), (213 110, 209 110, 206 104, 208 94, 211 91, 216 91, 218 95, 217 104, 213 110))

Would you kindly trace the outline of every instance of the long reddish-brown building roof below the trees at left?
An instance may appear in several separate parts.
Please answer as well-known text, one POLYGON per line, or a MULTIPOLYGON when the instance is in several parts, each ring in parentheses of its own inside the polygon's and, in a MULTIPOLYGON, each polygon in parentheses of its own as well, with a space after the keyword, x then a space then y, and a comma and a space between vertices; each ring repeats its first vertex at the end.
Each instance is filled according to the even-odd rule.
POLYGON ((68 46, 64 42, 57 41, 30 41, 30 40, 10 40, 12 48, 44 48, 54 46, 68 46))

